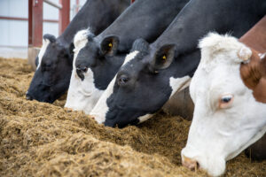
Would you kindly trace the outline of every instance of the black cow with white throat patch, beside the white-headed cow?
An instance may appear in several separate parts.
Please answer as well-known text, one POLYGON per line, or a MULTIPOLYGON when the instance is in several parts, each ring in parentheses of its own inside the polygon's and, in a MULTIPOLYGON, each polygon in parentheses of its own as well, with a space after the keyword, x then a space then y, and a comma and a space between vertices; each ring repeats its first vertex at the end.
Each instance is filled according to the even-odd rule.
POLYGON ((263 0, 191 0, 165 32, 145 47, 148 50, 129 54, 129 62, 121 67, 90 115, 109 127, 151 118, 171 96, 189 85, 200 62, 197 44, 201 37, 211 30, 239 37, 265 12, 263 0))

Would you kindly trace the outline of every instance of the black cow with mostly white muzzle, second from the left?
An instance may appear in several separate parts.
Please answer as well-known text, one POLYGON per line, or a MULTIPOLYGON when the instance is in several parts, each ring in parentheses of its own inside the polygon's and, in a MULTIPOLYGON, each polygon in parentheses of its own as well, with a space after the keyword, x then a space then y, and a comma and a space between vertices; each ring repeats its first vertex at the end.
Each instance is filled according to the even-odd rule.
POLYGON ((65 107, 90 113, 139 37, 153 42, 188 0, 139 0, 110 27, 95 36, 82 30, 74 37, 74 70, 65 107))

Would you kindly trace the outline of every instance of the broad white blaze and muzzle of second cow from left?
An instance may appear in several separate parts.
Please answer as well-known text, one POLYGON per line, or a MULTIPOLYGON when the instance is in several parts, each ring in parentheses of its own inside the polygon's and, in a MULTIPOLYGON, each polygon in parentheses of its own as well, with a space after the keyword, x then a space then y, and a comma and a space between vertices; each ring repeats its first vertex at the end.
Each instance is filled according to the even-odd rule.
POLYGON ((71 75, 70 85, 66 97, 66 108, 71 108, 74 111, 83 111, 89 114, 91 109, 97 103, 98 98, 102 95, 103 90, 99 90, 95 87, 93 73, 88 68, 88 71, 84 73, 84 80, 82 81, 75 68, 75 60, 78 53, 84 48, 88 42, 88 35, 90 30, 81 30, 74 36, 74 61, 73 71, 71 75))

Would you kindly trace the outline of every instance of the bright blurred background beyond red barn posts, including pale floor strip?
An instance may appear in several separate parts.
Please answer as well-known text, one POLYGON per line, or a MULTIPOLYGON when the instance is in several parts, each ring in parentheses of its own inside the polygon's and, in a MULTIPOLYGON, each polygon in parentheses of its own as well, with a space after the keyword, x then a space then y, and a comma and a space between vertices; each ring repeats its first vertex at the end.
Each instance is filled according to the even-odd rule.
MULTIPOLYGON (((59 0, 49 1, 59 4, 59 0)), ((70 20, 85 2, 70 0, 70 20)), ((43 34, 59 36, 59 9, 44 2, 43 34)), ((0 0, 0 57, 27 58, 27 45, 28 0, 0 0)))

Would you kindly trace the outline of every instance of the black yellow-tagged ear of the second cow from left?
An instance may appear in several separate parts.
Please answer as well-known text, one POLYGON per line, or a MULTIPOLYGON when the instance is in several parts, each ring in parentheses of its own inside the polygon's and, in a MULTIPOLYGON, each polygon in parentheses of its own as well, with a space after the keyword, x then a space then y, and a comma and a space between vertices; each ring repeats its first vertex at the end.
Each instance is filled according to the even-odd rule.
POLYGON ((112 57, 115 55, 119 44, 119 38, 115 35, 107 36, 100 44, 100 50, 103 55, 112 57))

